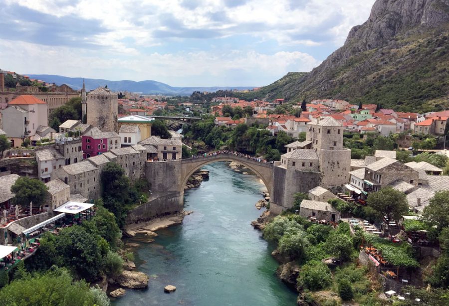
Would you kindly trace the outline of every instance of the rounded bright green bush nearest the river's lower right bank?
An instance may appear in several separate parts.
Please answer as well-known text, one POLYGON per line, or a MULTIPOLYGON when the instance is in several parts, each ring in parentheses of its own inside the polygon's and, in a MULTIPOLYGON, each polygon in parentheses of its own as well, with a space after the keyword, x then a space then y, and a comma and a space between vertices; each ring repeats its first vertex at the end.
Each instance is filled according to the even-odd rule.
POLYGON ((321 290, 332 283, 329 268, 322 262, 312 260, 302 266, 298 285, 311 291, 321 290))

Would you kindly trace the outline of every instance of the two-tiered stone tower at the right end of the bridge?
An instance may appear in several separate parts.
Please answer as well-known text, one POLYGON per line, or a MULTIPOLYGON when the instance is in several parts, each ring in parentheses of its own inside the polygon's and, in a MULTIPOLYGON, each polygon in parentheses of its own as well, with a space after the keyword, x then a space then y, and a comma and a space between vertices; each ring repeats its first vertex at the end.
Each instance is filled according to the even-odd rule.
POLYGON ((308 125, 306 140, 319 157, 321 186, 340 186, 349 181, 351 150, 343 148, 343 125, 332 117, 308 125))

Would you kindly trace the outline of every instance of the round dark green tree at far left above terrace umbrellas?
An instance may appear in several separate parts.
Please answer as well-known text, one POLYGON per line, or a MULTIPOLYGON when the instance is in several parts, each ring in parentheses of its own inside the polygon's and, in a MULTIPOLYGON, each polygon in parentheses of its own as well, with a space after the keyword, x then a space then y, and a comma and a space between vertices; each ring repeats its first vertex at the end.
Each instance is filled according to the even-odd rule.
POLYGON ((32 201, 34 207, 38 207, 44 203, 47 189, 42 181, 21 176, 11 186, 11 192, 15 193, 13 202, 27 206, 32 201))

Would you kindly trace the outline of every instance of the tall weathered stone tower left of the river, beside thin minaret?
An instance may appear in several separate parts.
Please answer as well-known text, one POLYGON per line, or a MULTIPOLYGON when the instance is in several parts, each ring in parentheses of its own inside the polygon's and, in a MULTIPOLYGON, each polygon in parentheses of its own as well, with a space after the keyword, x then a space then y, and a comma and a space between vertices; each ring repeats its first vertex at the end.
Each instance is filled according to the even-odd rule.
POLYGON ((103 132, 118 133, 118 96, 111 90, 98 87, 87 94, 87 124, 103 132))

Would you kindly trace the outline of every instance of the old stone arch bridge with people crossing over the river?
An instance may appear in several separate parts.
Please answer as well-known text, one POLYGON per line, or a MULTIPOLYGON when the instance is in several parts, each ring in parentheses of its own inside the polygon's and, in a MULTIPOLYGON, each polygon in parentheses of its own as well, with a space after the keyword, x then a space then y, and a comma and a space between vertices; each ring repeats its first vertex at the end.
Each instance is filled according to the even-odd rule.
POLYGON ((249 158, 237 156, 234 154, 218 154, 214 156, 188 158, 181 161, 181 189, 184 191, 184 186, 189 177, 199 168, 217 161, 236 161, 252 172, 254 172, 265 184, 268 193, 271 194, 273 189, 273 165, 270 163, 258 162, 249 158))

